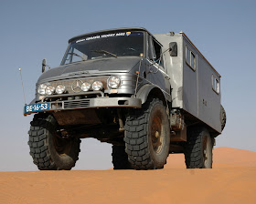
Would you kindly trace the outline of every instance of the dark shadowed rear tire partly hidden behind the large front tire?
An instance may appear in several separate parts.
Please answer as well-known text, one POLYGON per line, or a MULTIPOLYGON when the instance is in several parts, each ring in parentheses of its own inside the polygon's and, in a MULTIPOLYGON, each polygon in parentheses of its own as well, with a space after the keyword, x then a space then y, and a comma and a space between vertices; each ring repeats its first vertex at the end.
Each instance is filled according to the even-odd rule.
POLYGON ((124 146, 112 146, 112 164, 113 169, 132 169, 124 146))

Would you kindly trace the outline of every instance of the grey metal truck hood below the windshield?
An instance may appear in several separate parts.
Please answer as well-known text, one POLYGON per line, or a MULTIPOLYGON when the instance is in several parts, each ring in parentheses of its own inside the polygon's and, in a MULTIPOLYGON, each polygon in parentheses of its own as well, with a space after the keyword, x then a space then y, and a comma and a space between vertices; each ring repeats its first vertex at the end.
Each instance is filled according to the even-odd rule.
POLYGON ((117 58, 107 57, 58 66, 43 73, 38 78, 38 82, 46 79, 57 80, 78 75, 129 72, 139 63, 140 59, 141 57, 139 56, 118 56, 117 58))

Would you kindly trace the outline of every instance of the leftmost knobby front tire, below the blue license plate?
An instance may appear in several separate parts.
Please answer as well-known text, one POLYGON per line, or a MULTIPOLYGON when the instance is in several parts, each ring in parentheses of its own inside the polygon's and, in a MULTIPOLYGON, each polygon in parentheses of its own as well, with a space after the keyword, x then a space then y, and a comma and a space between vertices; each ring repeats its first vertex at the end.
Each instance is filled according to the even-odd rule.
POLYGON ((59 138, 54 117, 35 115, 28 131, 30 155, 40 170, 69 170, 79 159, 80 138, 59 138))

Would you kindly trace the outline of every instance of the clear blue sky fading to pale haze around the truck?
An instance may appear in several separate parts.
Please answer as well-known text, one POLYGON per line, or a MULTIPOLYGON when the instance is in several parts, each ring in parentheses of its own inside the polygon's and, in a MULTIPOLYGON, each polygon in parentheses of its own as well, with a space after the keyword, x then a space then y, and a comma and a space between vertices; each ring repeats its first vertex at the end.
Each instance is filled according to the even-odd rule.
MULTIPOLYGON (((142 26, 151 33, 183 31, 220 73, 228 122, 217 147, 256 151, 255 1, 1 1, 0 171, 36 170, 27 146, 41 61, 59 66, 68 40, 87 32, 142 26)), ((74 169, 112 168, 111 146, 83 139, 74 169)))

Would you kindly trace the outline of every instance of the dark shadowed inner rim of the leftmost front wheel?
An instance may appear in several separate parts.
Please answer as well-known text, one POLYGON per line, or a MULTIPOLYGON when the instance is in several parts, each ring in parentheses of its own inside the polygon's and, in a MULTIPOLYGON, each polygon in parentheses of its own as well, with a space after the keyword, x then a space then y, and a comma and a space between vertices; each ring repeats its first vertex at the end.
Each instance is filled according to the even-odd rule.
POLYGON ((69 154, 72 147, 72 141, 67 138, 59 138, 56 134, 53 136, 53 145, 59 156, 65 156, 69 154))

